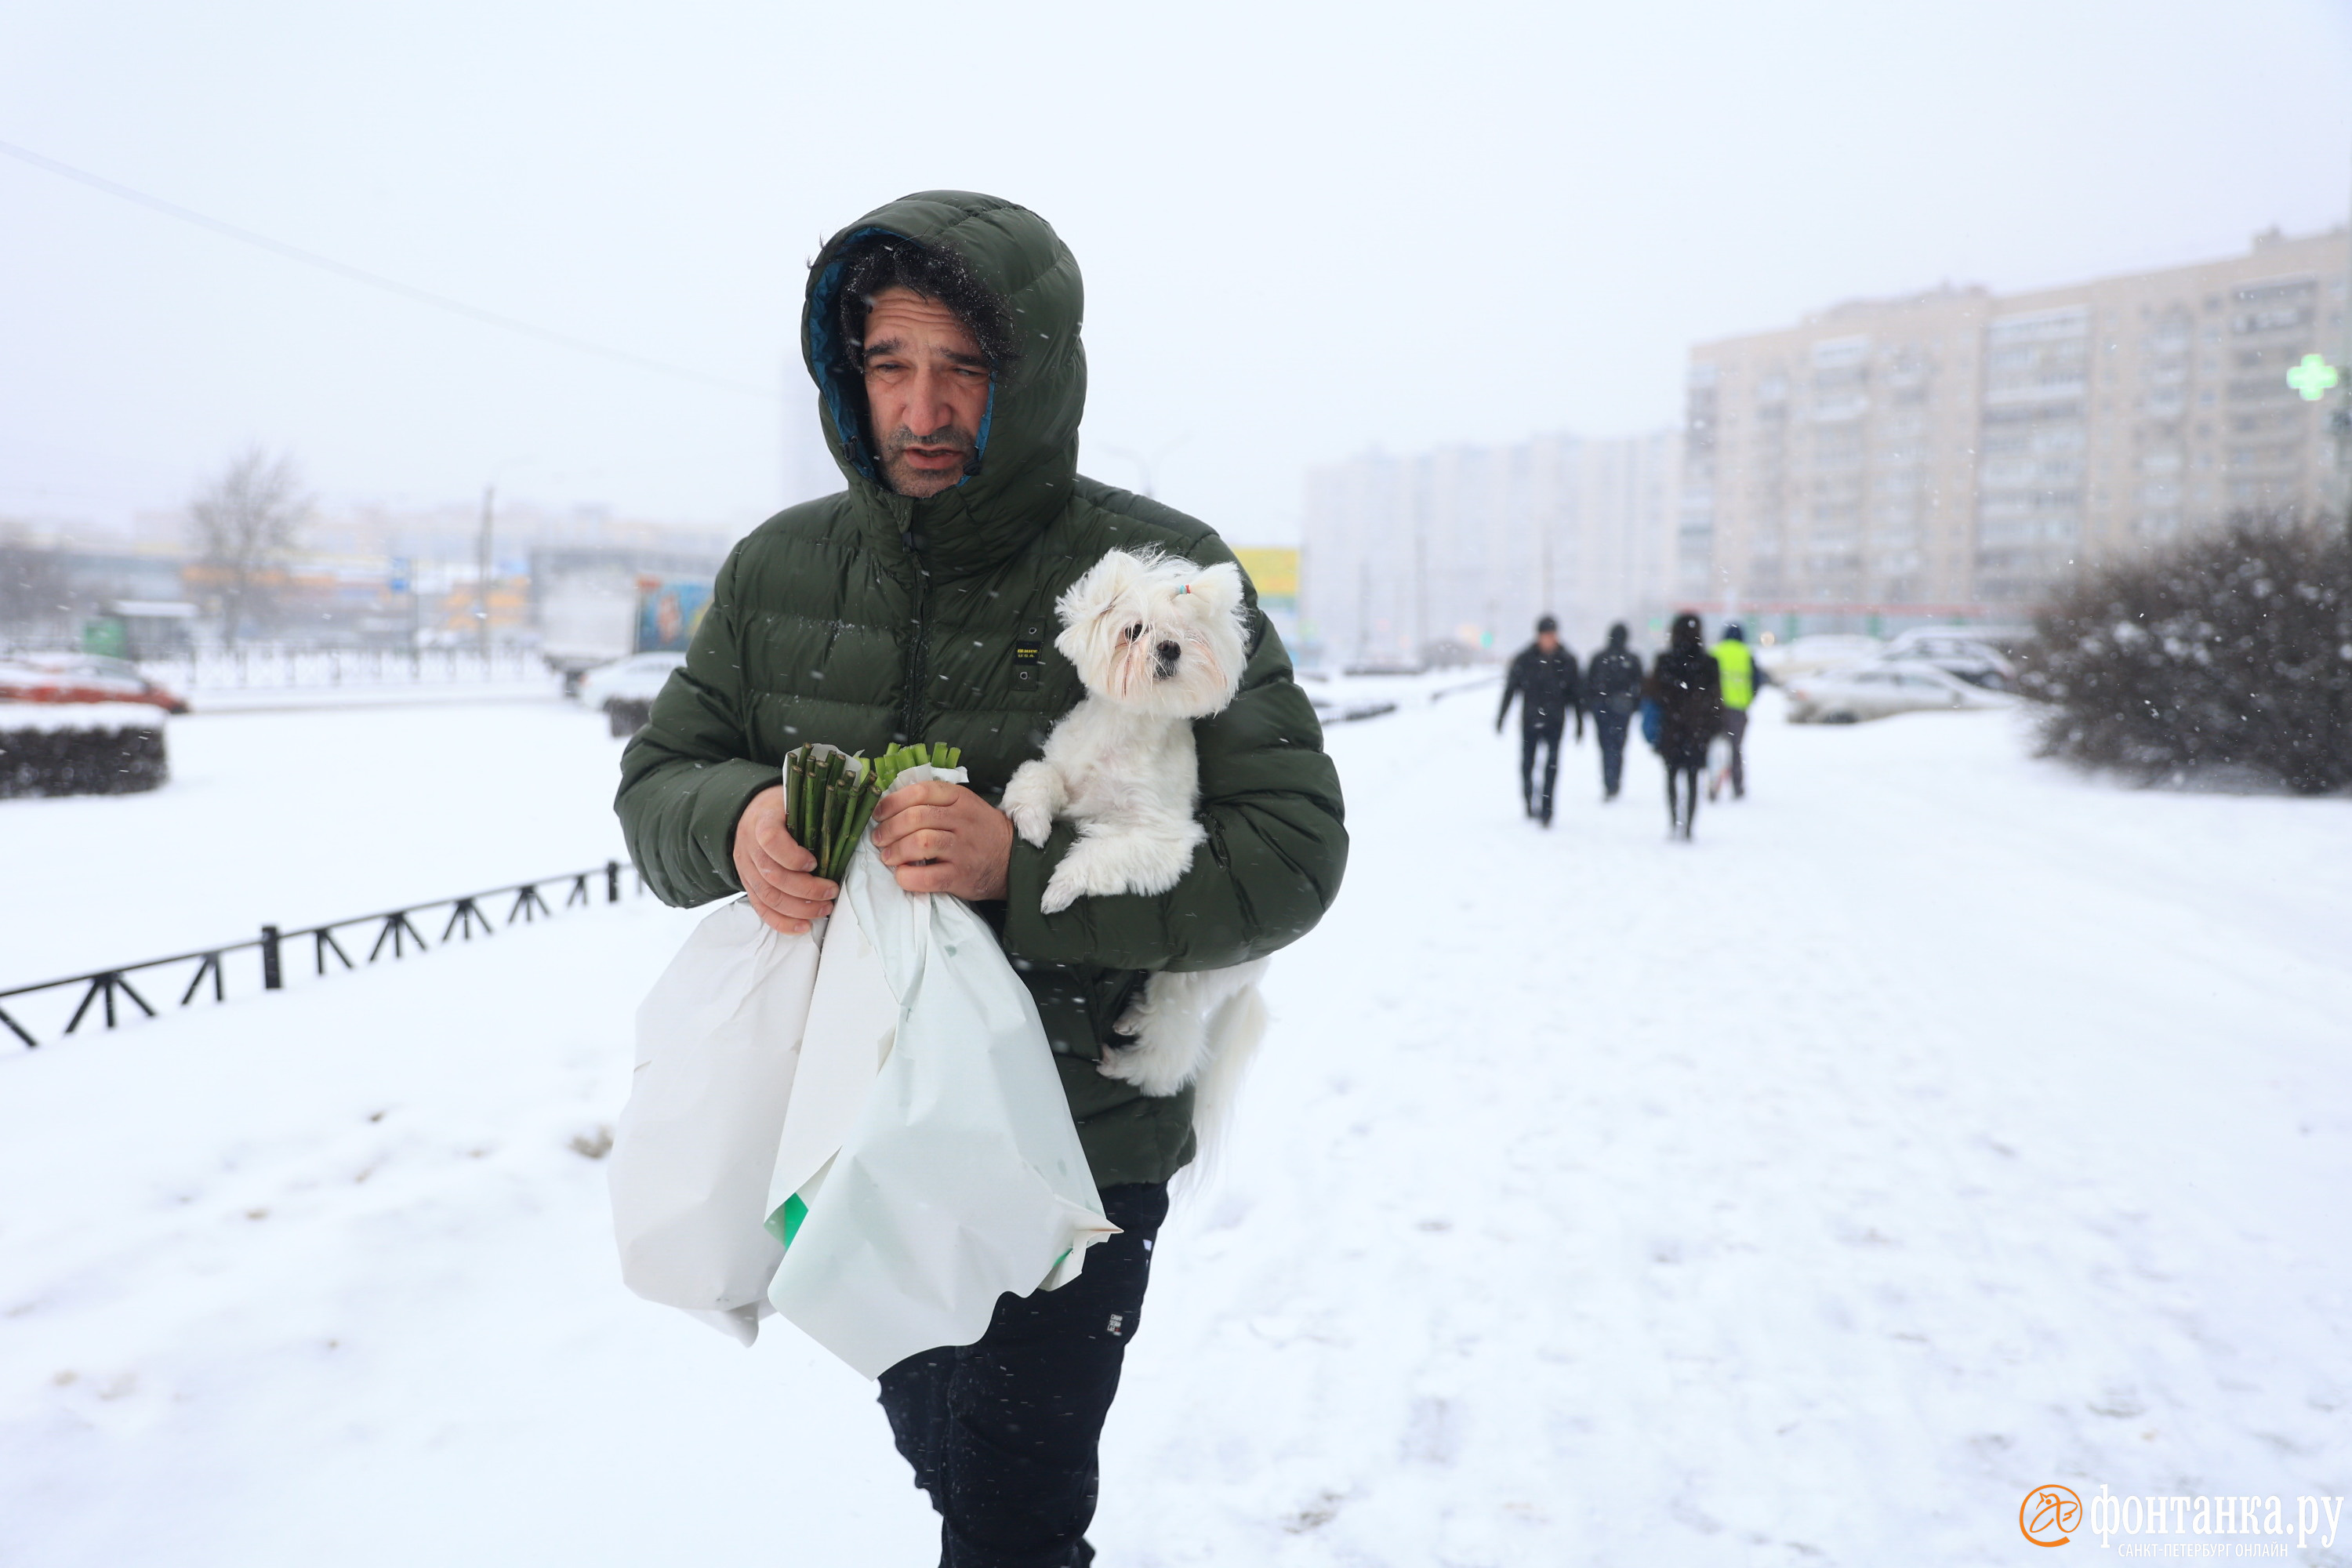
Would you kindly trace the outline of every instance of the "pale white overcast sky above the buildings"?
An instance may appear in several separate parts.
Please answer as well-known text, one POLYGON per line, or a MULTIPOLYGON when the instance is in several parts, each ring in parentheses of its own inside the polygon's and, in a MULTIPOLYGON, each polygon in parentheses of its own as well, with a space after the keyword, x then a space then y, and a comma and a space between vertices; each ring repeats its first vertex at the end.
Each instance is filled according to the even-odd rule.
POLYGON ((1237 543, 1381 444, 1677 416, 1689 343, 2352 205, 2352 0, 0 2, 0 141, 750 386, 515 339, 0 158, 0 517, 327 503, 748 529, 807 259, 906 190, 1087 273, 1084 468, 1237 543))

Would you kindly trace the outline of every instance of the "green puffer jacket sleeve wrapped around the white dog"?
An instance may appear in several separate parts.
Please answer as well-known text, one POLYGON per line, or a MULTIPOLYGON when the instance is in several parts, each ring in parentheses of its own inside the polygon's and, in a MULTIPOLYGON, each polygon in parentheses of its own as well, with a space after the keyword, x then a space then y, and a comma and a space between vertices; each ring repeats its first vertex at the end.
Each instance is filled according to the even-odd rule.
POLYGON ((1037 905, 1073 827, 1056 823, 1042 849, 1014 839, 1007 954, 1098 969, 1225 969, 1298 940, 1331 907, 1348 867, 1338 769, 1282 639, 1263 616, 1258 628, 1240 696, 1192 726, 1209 830, 1192 867, 1167 893, 1080 898, 1044 914, 1037 905))

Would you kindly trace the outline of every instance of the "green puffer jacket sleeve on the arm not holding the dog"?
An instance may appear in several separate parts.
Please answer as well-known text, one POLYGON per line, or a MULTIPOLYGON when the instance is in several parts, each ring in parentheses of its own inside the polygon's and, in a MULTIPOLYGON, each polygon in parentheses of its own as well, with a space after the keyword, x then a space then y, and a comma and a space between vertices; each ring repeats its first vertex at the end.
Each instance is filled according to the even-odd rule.
POLYGON ((750 759, 743 729, 743 644, 736 564, 720 569, 687 663, 654 698, 654 715, 621 752, 621 832, 661 903, 691 907, 741 893, 734 827, 776 764, 750 759))

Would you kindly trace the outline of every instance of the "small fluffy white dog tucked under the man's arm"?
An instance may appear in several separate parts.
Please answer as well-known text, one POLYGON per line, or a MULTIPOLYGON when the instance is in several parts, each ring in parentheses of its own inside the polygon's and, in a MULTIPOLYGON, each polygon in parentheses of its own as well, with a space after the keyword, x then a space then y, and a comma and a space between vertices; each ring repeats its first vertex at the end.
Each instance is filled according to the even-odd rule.
MULTIPOLYGON (((1112 550, 1054 611, 1063 625, 1054 646, 1077 665, 1087 698, 1004 785, 1004 816, 1040 846, 1056 816, 1077 823, 1077 842, 1044 886, 1047 914, 1101 893, 1167 893, 1209 837, 1195 816, 1192 719, 1223 712, 1240 691, 1242 571, 1112 550)), ((1263 973, 1265 959, 1254 959, 1152 976, 1117 1023, 1136 1044, 1112 1051, 1103 1072, 1150 1095, 1200 1081, 1192 1121, 1207 1145, 1265 1032, 1263 973)))

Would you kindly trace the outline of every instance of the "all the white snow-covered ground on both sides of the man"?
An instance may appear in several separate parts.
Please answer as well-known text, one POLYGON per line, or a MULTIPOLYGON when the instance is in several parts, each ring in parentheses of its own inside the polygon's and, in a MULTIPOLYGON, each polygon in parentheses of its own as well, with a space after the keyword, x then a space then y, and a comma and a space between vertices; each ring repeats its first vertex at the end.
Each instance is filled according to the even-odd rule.
MULTIPOLYGON (((1160 1246, 1105 1568, 2006 1563, 2046 1481, 2352 1490, 2352 804, 1764 712, 1696 844, 1590 745, 1545 832, 1491 701, 1331 731, 1348 891, 1160 1246)), ((176 719, 151 797, 0 804, 0 976, 590 865, 616 752, 176 719)), ((863 1382, 614 1281, 574 1143, 691 919, 0 1058, 0 1561, 931 1561, 863 1382)))

